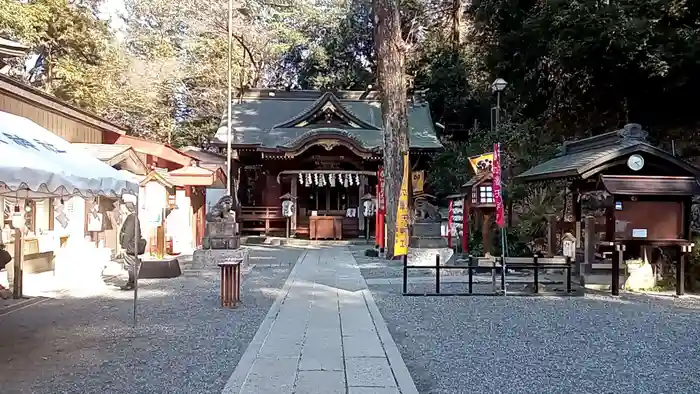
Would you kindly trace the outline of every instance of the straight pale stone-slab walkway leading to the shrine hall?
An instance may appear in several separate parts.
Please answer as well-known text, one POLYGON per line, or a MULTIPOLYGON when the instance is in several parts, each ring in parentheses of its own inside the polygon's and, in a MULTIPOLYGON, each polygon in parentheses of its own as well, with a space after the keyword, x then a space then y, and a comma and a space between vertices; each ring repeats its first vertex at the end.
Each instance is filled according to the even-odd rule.
POLYGON ((417 394, 345 247, 301 256, 225 394, 417 394))

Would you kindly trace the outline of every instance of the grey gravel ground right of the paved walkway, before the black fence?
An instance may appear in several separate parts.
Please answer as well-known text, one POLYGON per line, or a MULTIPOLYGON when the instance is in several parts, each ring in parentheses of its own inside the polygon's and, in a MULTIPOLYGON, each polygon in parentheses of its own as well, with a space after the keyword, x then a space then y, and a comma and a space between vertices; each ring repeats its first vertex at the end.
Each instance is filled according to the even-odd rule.
MULTIPOLYGON (((432 285, 415 289, 421 286, 432 285)), ((424 394, 700 392, 698 298, 403 297, 400 285, 370 290, 424 394)))

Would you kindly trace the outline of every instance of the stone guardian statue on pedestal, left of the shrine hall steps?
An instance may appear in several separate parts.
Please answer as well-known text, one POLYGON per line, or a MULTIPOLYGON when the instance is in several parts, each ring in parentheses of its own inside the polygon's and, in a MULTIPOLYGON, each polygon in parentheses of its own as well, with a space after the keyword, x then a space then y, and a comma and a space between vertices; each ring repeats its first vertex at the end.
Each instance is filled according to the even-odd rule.
POLYGON ((236 214, 233 212, 233 197, 222 197, 207 213, 207 225, 202 240, 205 249, 238 249, 240 235, 236 214))

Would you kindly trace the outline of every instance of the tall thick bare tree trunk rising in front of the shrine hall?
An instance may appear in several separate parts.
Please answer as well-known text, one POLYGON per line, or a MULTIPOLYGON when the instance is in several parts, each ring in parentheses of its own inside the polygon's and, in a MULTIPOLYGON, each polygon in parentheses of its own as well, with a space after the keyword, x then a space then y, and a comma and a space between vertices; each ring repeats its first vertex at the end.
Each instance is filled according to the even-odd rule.
MULTIPOLYGON (((374 42, 384 126, 387 258, 394 257, 396 208, 403 180, 403 154, 408 152, 405 52, 398 0, 373 0, 374 42)), ((410 174, 409 174, 410 176, 410 174)))

